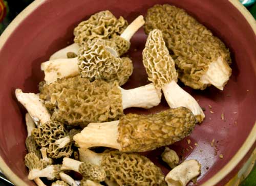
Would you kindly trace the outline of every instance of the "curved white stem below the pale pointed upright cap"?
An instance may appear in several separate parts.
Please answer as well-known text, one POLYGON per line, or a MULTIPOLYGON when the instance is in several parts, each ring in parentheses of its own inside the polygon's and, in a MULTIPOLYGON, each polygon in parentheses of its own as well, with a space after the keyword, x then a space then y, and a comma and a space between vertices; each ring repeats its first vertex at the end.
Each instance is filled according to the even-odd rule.
POLYGON ((196 99, 184 91, 176 81, 164 85, 162 90, 170 108, 186 107, 199 122, 203 121, 205 115, 196 99))

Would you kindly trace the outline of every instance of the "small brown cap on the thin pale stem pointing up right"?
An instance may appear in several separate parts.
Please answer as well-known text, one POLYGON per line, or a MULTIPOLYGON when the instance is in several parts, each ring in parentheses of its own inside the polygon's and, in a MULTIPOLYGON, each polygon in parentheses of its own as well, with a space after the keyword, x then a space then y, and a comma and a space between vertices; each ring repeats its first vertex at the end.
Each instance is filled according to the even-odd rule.
POLYGON ((124 38, 118 36, 117 34, 112 36, 110 38, 110 41, 115 42, 119 56, 122 56, 123 54, 125 54, 130 49, 130 46, 131 46, 130 41, 125 40, 124 38))

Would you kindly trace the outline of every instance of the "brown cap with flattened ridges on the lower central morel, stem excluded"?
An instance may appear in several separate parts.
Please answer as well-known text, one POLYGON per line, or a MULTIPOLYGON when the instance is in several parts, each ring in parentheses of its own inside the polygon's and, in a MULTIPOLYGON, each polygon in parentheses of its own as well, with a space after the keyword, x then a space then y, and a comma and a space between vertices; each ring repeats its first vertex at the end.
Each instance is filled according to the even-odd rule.
POLYGON ((119 122, 117 142, 124 152, 144 152, 182 140, 194 129, 196 119, 184 107, 157 114, 124 115, 119 122))

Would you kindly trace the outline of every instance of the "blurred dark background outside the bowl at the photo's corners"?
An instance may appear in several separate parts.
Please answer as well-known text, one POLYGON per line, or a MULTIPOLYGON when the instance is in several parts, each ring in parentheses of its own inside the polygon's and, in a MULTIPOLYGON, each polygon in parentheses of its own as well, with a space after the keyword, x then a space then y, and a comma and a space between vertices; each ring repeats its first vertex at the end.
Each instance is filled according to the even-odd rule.
MULTIPOLYGON (((36 0, 39 1, 39 0, 36 0)), ((177 0, 178 1, 178 0, 177 0)), ((237 0, 240 1, 256 19, 256 0, 237 0)), ((0 0, 0 35, 4 32, 8 24, 23 11, 33 0, 0 0)), ((256 166, 254 165, 256 159, 256 149, 247 162, 247 165, 226 184, 226 186, 256 186, 256 166), (253 166, 254 165, 254 166, 253 166), (252 167, 254 167, 252 169, 252 167), (252 169, 252 171, 251 171, 252 169), (243 170, 243 171, 242 171, 243 170), (250 170, 250 171, 244 171, 250 170)), ((0 185, 11 186, 10 181, 1 173, 0 170, 0 185)))

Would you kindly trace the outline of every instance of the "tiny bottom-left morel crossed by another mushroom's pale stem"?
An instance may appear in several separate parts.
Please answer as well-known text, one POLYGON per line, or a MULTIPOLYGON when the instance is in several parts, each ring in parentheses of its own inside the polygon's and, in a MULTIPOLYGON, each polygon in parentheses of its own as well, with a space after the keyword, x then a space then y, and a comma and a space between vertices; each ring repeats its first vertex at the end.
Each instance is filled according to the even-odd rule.
MULTIPOLYGON (((39 157, 34 152, 26 154, 25 165, 29 169, 29 172, 38 171, 43 168, 39 157)), ((39 177, 35 177, 33 180, 38 186, 46 186, 39 177)))

